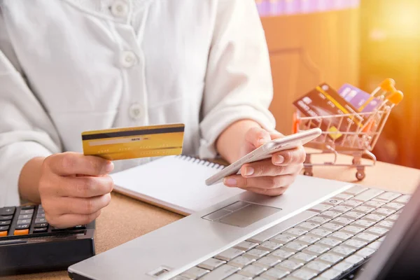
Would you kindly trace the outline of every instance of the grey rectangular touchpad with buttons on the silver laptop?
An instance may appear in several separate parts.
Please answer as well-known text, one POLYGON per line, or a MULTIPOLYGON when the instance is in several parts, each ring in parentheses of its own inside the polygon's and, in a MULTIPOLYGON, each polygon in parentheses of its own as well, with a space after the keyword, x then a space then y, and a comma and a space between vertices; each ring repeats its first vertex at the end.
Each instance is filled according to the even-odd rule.
POLYGON ((218 209, 202 218, 217 223, 225 223, 239 228, 245 228, 263 218, 276 214, 279 211, 281 211, 280 208, 239 201, 222 209, 218 209))

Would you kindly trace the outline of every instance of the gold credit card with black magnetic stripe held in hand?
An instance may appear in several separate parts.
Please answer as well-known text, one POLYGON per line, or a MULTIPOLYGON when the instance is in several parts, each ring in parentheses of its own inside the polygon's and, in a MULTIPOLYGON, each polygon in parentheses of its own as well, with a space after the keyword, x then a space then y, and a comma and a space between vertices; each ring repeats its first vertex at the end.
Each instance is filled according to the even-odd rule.
POLYGON ((83 153, 107 160, 180 155, 184 128, 179 123, 83 132, 83 153))

